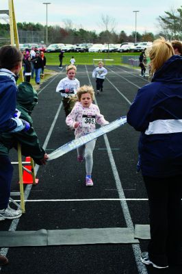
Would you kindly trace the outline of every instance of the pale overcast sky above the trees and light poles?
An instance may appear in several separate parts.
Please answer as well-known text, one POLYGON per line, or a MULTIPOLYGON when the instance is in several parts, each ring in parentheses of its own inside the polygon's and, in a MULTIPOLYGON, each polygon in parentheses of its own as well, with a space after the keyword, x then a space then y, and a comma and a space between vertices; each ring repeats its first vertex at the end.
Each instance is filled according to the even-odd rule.
MULTIPOLYGON (((8 10, 8 0, 0 0, 1 10, 8 10)), ((116 22, 115 30, 124 30, 127 34, 135 31, 135 12, 137 13, 137 31, 156 34, 157 17, 163 16, 171 8, 180 8, 181 0, 14 0, 16 22, 34 22, 46 25, 46 5, 48 6, 48 25, 64 27, 64 20, 71 20, 73 27, 101 32, 101 16, 108 15, 116 22)), ((4 21, 1 19, 1 23, 4 21)))

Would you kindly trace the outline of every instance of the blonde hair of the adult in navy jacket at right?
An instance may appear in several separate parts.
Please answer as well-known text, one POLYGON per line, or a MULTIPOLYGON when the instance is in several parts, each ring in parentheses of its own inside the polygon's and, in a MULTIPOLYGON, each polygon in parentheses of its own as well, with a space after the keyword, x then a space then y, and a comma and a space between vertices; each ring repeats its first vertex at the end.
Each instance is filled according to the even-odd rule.
POLYGON ((170 42, 166 41, 164 37, 153 42, 151 49, 148 50, 149 58, 151 59, 151 75, 163 66, 172 55, 174 55, 174 49, 170 42))

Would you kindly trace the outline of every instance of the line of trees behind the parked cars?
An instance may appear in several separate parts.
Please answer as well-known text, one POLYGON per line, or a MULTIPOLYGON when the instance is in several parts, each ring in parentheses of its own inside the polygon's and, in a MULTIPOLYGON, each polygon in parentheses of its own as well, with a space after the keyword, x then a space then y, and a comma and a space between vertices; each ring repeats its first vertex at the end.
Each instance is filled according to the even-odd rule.
MULTIPOLYGON (((71 21, 66 21, 65 27, 59 25, 48 26, 48 41, 49 44, 55 42, 62 42, 68 44, 76 44, 83 42, 92 43, 114 43, 120 44, 122 42, 135 42, 135 32, 127 35, 124 30, 119 34, 108 29, 109 17, 105 16, 103 22, 105 23, 105 30, 99 34, 96 31, 88 31, 80 28, 73 27, 71 21)), ((165 12, 164 16, 157 18, 159 33, 154 35, 152 32, 144 32, 140 34, 137 32, 137 42, 153 41, 159 36, 164 36, 168 40, 182 40, 182 6, 177 10, 171 9, 165 12), (161 29, 161 30, 160 30, 161 29)), ((46 26, 40 23, 17 23, 18 31, 31 31, 31 32, 44 32, 44 41, 46 40, 46 26)), ((0 23, 0 38, 6 38, 10 36, 10 26, 8 24, 0 23)), ((37 41, 40 42, 40 41, 37 41)))

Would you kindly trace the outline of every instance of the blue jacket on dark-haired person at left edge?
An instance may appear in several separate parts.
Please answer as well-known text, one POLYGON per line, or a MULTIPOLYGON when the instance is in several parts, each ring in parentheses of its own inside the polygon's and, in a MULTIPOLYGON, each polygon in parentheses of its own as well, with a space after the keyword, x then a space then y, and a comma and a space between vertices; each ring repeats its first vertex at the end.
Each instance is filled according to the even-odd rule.
POLYGON ((23 129, 20 119, 14 119, 17 87, 15 75, 8 69, 0 69, 0 133, 23 129))

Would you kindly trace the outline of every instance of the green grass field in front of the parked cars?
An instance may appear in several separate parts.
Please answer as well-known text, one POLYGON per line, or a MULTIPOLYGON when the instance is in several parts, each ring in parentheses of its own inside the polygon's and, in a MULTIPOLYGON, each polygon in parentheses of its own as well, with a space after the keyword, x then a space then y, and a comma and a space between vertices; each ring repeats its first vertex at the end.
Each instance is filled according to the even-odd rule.
MULTIPOLYGON (((45 53, 47 58, 47 65, 59 65, 60 53, 45 53)), ((64 53, 63 64, 69 64, 70 58, 74 56, 76 64, 93 64, 93 59, 113 59, 112 64, 121 64, 122 55, 140 55, 140 53, 64 53)), ((107 64, 109 63, 106 61, 107 64)))

